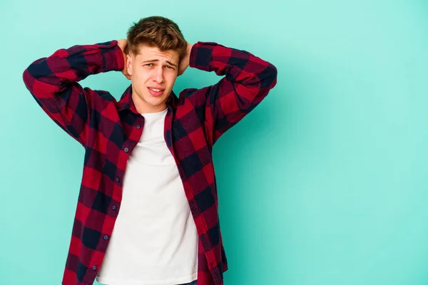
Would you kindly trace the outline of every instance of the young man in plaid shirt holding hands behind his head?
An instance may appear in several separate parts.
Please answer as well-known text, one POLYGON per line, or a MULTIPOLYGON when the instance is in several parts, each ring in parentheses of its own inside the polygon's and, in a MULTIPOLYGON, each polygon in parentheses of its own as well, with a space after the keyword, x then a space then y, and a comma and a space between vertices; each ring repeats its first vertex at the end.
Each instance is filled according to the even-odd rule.
POLYGON ((222 285, 228 269, 218 221, 212 150, 276 84, 275 66, 217 43, 187 43, 159 16, 128 38, 60 49, 24 71, 41 108, 85 147, 62 284, 222 285), (188 66, 224 76, 172 88, 188 66), (122 71, 121 99, 82 88, 122 71))

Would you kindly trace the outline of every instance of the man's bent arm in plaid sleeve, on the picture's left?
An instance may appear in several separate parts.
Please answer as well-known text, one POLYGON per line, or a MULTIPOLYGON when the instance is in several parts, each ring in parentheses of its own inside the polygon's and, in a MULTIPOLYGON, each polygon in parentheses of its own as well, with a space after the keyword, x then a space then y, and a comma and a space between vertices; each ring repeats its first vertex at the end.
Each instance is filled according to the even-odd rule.
POLYGON ((123 51, 118 41, 109 41, 60 49, 31 63, 23 79, 44 112, 85 147, 91 106, 101 97, 78 81, 91 74, 123 70, 123 51))

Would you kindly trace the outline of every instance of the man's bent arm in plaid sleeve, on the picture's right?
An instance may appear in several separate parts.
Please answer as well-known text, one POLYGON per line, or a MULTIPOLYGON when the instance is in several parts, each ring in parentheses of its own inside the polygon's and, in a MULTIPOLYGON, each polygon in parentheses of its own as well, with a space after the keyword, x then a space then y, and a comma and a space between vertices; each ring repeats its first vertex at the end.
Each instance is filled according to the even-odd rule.
POLYGON ((250 113, 277 83, 277 69, 271 63, 217 43, 195 43, 189 66, 225 76, 215 85, 195 91, 203 94, 205 129, 211 145, 250 113))

